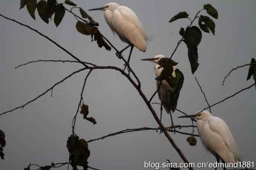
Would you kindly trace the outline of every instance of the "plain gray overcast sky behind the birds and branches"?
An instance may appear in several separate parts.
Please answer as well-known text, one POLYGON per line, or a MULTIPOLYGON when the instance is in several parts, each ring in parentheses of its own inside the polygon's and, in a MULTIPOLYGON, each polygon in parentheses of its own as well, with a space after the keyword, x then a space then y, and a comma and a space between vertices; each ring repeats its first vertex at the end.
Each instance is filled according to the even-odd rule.
MULTIPOLYGON (((63 2, 61 0, 59 2, 63 2)), ((105 0, 74 0, 83 9, 101 7, 109 3, 105 0)), ((141 20, 144 29, 152 41, 145 53, 135 49, 131 66, 142 82, 142 91, 150 97, 155 91, 155 73, 153 63, 140 61, 142 58, 154 57, 157 54, 170 56, 177 41, 180 27, 186 27, 186 19, 168 23, 171 17, 180 11, 187 11, 190 17, 202 9, 203 4, 210 3, 219 11, 215 20, 216 35, 203 33, 198 46, 200 66, 195 75, 191 74, 187 57, 187 48, 180 44, 173 59, 183 71, 185 81, 178 101, 179 109, 186 113, 195 113, 207 106, 196 84, 198 78, 206 96, 213 104, 225 97, 253 84, 253 79, 246 81, 248 67, 231 74, 225 86, 222 80, 230 69, 249 63, 255 56, 256 47, 256 1, 254 0, 119 0, 117 3, 130 7, 141 20)), ((62 23, 56 29, 53 22, 45 24, 36 12, 36 21, 28 14, 26 8, 19 10, 19 1, 1 1, 0 13, 42 31, 81 60, 97 65, 122 66, 114 50, 99 49, 89 36, 83 36, 75 29, 76 20, 66 13, 62 23)), ((79 13, 79 12, 78 12, 79 13)), ((126 44, 114 38, 108 28, 104 13, 89 13, 100 23, 99 29, 118 49, 126 44)), ((206 14, 205 11, 202 14, 206 14)), ((197 25, 197 22, 195 23, 197 25)), ((71 72, 81 68, 73 63, 33 63, 19 69, 17 65, 32 60, 70 60, 71 57, 54 44, 29 29, 0 18, 0 108, 6 111, 20 106, 38 96, 44 90, 63 79, 71 72)), ((124 53, 127 57, 128 52, 124 53)), ((66 80, 50 93, 35 102, 1 116, 0 129, 6 133, 7 145, 4 148, 5 160, 0 161, 0 169, 18 170, 30 162, 40 165, 64 162, 68 160, 66 140, 71 134, 71 122, 75 114, 82 83, 86 72, 76 74, 66 80)), ((212 108, 214 116, 221 117, 232 131, 237 142, 242 160, 256 161, 256 114, 255 88, 244 91, 212 108)), ((138 92, 117 71, 93 71, 86 84, 85 103, 89 104, 89 115, 97 124, 82 119, 78 115, 76 134, 85 140, 104 136, 115 131, 139 128, 158 127, 138 92)), ((158 102, 158 97, 153 101, 158 102)), ((154 105, 160 112, 160 106, 154 105)), ((163 112, 163 123, 170 125, 170 118, 163 112)), ((189 120, 177 119, 181 116, 175 112, 174 123, 187 125, 189 120)), ((191 129, 182 129, 191 132, 191 129)), ((187 136, 170 134, 190 162, 200 163, 215 161, 206 153, 198 139, 194 147, 186 142, 187 136)), ((163 134, 155 131, 143 131, 121 134, 104 140, 89 143, 91 156, 89 165, 101 170, 143 169, 144 161, 164 163, 169 159, 173 163, 183 162, 163 134)), ((60 168, 66 169, 66 167, 60 168)))

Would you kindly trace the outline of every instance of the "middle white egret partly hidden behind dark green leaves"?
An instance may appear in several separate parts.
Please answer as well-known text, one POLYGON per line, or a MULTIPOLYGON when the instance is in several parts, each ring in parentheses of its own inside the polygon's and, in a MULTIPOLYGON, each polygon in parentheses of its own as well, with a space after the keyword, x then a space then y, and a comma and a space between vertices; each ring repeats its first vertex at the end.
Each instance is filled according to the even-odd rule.
MULTIPOLYGON (((157 55, 151 59, 142 59, 142 61, 152 61, 152 62, 156 63, 156 65, 154 66, 154 70, 155 70, 155 76, 158 77, 158 76, 160 76, 161 71, 163 71, 163 67, 160 67, 160 65, 158 63, 160 61, 160 59, 162 59, 162 58, 164 58, 163 55, 157 55)), ((161 83, 161 81, 157 81, 157 89, 161 83, 160 89, 158 90, 158 97, 161 101, 161 104, 163 104, 164 109, 167 112, 167 114, 170 113, 171 126, 174 126, 173 117, 171 116, 171 111, 174 112, 177 107, 178 97, 180 96, 180 90, 181 90, 181 87, 182 87, 183 81, 184 81, 184 76, 181 73, 181 71, 173 66, 172 76, 174 79, 177 77, 176 74, 180 75, 180 77, 177 78, 178 79, 177 82, 180 84, 180 86, 171 87, 171 85, 166 80, 163 80, 162 83, 161 83)), ((162 105, 161 105, 160 119, 162 120, 162 105)))

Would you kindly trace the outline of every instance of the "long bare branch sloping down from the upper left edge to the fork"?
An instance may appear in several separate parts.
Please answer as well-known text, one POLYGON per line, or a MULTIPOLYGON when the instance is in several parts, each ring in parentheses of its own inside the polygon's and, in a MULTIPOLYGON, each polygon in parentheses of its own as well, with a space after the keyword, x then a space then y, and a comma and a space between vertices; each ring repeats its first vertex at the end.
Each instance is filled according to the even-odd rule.
POLYGON ((18 24, 20 24, 20 25, 22 25, 22 26, 24 26, 24 27, 27 27, 27 28, 29 28, 30 30, 35 31, 36 33, 38 33, 38 34, 40 34, 41 36, 45 37, 47 40, 51 41, 53 44, 55 44, 56 46, 58 46, 60 49, 62 49, 62 50, 65 51, 66 53, 68 53, 71 57, 73 57, 74 59, 76 59, 79 63, 83 64, 83 66, 88 67, 85 63, 83 63, 81 60, 79 60, 76 56, 74 56, 73 54, 71 54, 68 50, 66 50, 65 48, 63 48, 62 46, 60 46, 58 43, 56 43, 55 41, 53 41, 52 39, 50 39, 50 38, 47 37, 46 35, 40 33, 39 31, 33 29, 32 27, 30 27, 30 26, 28 26, 28 25, 25 25, 25 24, 23 24, 23 23, 20 23, 19 21, 16 21, 16 20, 14 20, 14 19, 10 19, 10 18, 8 18, 8 17, 6 17, 6 16, 3 16, 2 14, 0 14, 0 16, 1 16, 1 17, 4 17, 4 18, 7 19, 7 20, 11 20, 11 21, 13 21, 13 22, 15 22, 15 23, 18 23, 18 24))

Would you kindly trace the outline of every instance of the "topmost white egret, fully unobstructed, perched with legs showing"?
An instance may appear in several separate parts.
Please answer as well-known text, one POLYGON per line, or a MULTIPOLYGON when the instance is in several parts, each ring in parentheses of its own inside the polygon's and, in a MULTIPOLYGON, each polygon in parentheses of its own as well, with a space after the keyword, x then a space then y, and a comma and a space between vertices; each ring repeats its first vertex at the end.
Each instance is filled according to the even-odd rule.
POLYGON ((89 11, 92 10, 105 11, 104 16, 110 29, 118 35, 121 41, 129 44, 117 55, 121 55, 124 50, 131 47, 127 63, 130 61, 134 46, 143 52, 147 50, 147 36, 134 11, 126 6, 119 6, 117 3, 108 3, 104 7, 90 9, 89 11))

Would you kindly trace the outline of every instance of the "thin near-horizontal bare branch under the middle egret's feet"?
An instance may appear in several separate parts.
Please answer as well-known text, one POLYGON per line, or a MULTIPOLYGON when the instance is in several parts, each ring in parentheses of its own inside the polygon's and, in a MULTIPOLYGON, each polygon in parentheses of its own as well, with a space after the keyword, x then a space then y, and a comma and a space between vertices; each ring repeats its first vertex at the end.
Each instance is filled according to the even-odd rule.
MULTIPOLYGON (((165 130, 169 131, 169 132, 177 132, 177 133, 181 133, 181 134, 186 134, 186 135, 192 135, 192 136, 198 136, 197 134, 190 134, 190 133, 184 133, 184 132, 181 132, 181 131, 177 131, 177 130, 170 130, 171 128, 179 128, 181 129, 182 127, 196 127, 196 126, 180 126, 180 125, 175 125, 175 126, 170 126, 170 127, 165 127, 165 130)), ((103 137, 99 137, 97 139, 91 139, 89 141, 87 141, 88 143, 89 142, 92 142, 92 141, 95 141, 95 140, 100 140, 100 139, 105 139, 106 137, 110 137, 110 136, 115 136, 115 135, 118 135, 118 134, 122 134, 122 133, 129 133, 129 132, 134 132, 134 131, 144 131, 144 130, 160 130, 161 128, 158 127, 158 128, 150 128, 150 127, 141 127, 141 128, 136 128, 136 129, 125 129, 125 130, 121 130, 121 131, 118 131, 118 132, 115 132, 115 133, 111 133, 111 134, 108 134, 106 136, 103 136, 103 137)))

